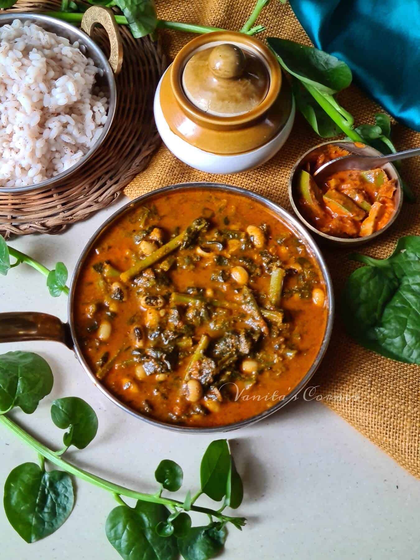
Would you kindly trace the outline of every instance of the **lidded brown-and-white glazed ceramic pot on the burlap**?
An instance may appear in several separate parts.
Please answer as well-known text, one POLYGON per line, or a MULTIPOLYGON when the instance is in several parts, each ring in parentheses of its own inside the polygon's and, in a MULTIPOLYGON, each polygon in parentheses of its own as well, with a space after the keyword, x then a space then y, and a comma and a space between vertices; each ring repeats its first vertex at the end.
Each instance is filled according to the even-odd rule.
POLYGON ((295 118, 291 88, 272 52, 234 31, 202 35, 184 46, 158 84, 154 111, 157 129, 176 157, 195 169, 223 174, 273 157, 295 118), (245 53, 236 76, 224 77, 223 64, 222 76, 212 73, 223 62, 220 55, 214 63, 212 51, 226 45, 245 53))

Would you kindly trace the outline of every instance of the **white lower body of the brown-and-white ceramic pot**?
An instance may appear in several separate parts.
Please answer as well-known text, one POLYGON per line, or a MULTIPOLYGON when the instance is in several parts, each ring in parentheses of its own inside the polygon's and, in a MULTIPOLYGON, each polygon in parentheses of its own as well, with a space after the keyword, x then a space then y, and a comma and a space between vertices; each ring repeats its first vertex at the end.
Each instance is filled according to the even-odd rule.
MULTIPOLYGON (((166 70, 166 72, 169 72, 169 69, 170 67, 166 70)), ((253 169, 253 167, 257 167, 258 165, 262 165, 280 150, 292 130, 293 121, 295 120, 294 99, 292 110, 286 124, 280 132, 267 142, 267 144, 264 144, 264 146, 256 148, 256 150, 250 152, 237 154, 235 156, 221 156, 205 152, 204 150, 200 150, 200 148, 185 142, 185 140, 174 134, 169 128, 164 114, 162 113, 160 104, 160 87, 162 80, 163 76, 158 83, 155 94, 155 102, 153 104, 157 130, 166 147, 174 154, 174 156, 178 157, 179 160, 183 161, 190 167, 194 167, 200 171, 216 174, 239 173, 241 171, 253 169)))

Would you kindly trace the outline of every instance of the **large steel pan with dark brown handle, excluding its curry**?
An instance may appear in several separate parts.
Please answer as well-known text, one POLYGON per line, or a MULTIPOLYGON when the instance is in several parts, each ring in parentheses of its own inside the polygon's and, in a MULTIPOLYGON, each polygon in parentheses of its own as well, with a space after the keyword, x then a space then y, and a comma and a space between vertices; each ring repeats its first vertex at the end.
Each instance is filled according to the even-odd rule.
POLYGON ((85 249, 83 249, 80 258, 76 264, 76 268, 74 269, 71 285, 70 285, 70 292, 68 298, 68 323, 62 323, 57 317, 52 315, 46 315, 44 313, 36 313, 36 312, 14 312, 14 313, 1 313, 0 314, 0 342, 16 342, 21 340, 55 340, 57 342, 61 342, 66 344, 68 348, 71 348, 77 356, 78 361, 81 363, 82 367, 86 371, 87 376, 90 380, 96 385, 96 387, 106 395, 114 404, 118 407, 125 410, 125 412, 132 414, 132 416, 143 420, 153 426, 159 426, 161 428, 166 428, 167 430, 172 430, 174 432, 182 432, 182 433, 216 433, 216 432, 225 432, 230 430, 236 430, 237 428, 241 428, 243 426, 248 426, 251 423, 256 421, 262 420, 267 418, 270 414, 277 412, 280 408, 284 407, 287 403, 289 403, 295 396, 300 393, 302 389, 305 388, 307 382, 311 379, 312 375, 314 375, 316 369, 320 365, 321 360, 325 354, 326 348, 328 347, 328 343, 331 337, 332 328, 333 328, 333 318, 334 318, 334 294, 333 294, 333 287, 330 278, 330 274, 328 272, 328 268, 326 267, 325 261, 323 256, 318 249, 318 246, 315 244, 312 237, 308 234, 305 227, 296 220, 295 217, 291 216, 290 213, 286 212, 284 208, 274 204, 270 200, 265 197, 262 197, 258 194, 254 194, 249 192, 248 190, 241 189, 236 186, 224 185, 219 183, 184 183, 179 185, 172 185, 166 186, 165 188, 155 190, 151 193, 144 194, 142 197, 125 204, 122 208, 120 208, 117 212, 113 214, 108 220, 106 220, 102 226, 95 232, 95 234, 91 237, 91 239, 87 242, 85 249), (222 193, 232 193, 236 195, 240 195, 241 197, 245 197, 247 199, 253 200, 254 202, 258 202, 262 204, 265 208, 269 209, 271 212, 276 214, 281 220, 286 223, 288 227, 291 228, 293 232, 305 242, 307 247, 310 249, 316 264, 318 265, 321 275, 323 277, 323 281, 325 283, 325 292, 326 292, 326 306, 327 306, 327 317, 326 317, 326 326, 324 337, 319 349, 317 356, 315 357, 314 362, 312 363, 309 371, 305 375, 304 379, 302 379, 297 386, 292 388, 290 393, 286 395, 283 400, 279 400, 279 402, 274 405, 272 408, 265 410, 264 412, 251 417, 247 418, 244 421, 236 422, 227 424, 225 426, 217 426, 217 427, 209 427, 209 428, 202 428, 202 427, 184 427, 178 426, 176 424, 161 422, 156 419, 150 418, 145 414, 137 412, 130 408, 127 404, 121 402, 116 396, 95 376, 94 371, 92 371, 91 367, 88 365, 85 357, 81 352, 80 342, 78 342, 78 336, 76 332, 75 326, 75 318, 74 318, 74 309, 75 309, 75 286, 77 284, 78 277, 81 273, 83 268, 83 264, 85 263, 86 258, 88 257, 92 247, 96 244, 99 237, 105 232, 107 228, 112 226, 116 220, 119 220, 125 213, 132 211, 133 208, 141 207, 144 204, 148 203, 152 199, 156 199, 161 194, 167 193, 176 193, 176 192, 188 192, 188 190, 197 190, 197 189, 209 189, 218 190, 222 193))

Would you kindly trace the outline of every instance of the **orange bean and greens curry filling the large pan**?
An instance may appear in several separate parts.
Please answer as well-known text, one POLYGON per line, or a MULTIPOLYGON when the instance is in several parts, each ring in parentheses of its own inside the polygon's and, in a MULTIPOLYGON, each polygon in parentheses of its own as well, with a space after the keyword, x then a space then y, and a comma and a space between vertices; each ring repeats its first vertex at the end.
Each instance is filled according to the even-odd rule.
POLYGON ((133 410, 188 427, 254 417, 304 379, 328 298, 311 249, 258 200, 166 191, 96 239, 74 286, 78 344, 133 410))

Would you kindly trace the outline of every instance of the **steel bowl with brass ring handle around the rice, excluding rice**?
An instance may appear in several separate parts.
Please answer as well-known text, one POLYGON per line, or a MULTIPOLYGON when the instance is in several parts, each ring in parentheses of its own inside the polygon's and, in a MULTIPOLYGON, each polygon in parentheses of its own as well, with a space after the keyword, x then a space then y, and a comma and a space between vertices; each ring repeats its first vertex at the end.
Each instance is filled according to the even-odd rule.
POLYGON ((96 74, 95 85, 100 91, 104 92, 108 98, 108 118, 104 125, 104 130, 89 151, 72 167, 63 171, 59 175, 55 175, 42 183, 34 185, 18 186, 18 187, 4 187, 0 186, 2 193, 22 193, 32 190, 44 189, 45 187, 53 187, 60 183, 63 179, 68 179, 72 174, 85 166, 88 160, 94 155, 101 144, 108 136, 109 129, 114 119, 116 108, 116 86, 114 74, 118 74, 122 64, 122 41, 119 36, 118 28, 115 24, 112 11, 108 8, 101 6, 92 6, 89 8, 82 20, 82 29, 78 29, 73 25, 57 20, 54 17, 42 15, 32 12, 2 12, 0 13, 0 27, 6 24, 11 24, 13 20, 29 21, 31 24, 36 24, 49 31, 57 34, 58 36, 68 39, 71 43, 78 41, 80 50, 86 57, 94 60, 95 66, 99 68, 99 73, 96 74), (99 45, 95 43, 89 36, 95 24, 101 24, 105 27, 108 33, 111 45, 111 55, 108 59, 102 52, 99 45), (86 32, 85 32, 86 31, 86 32))

